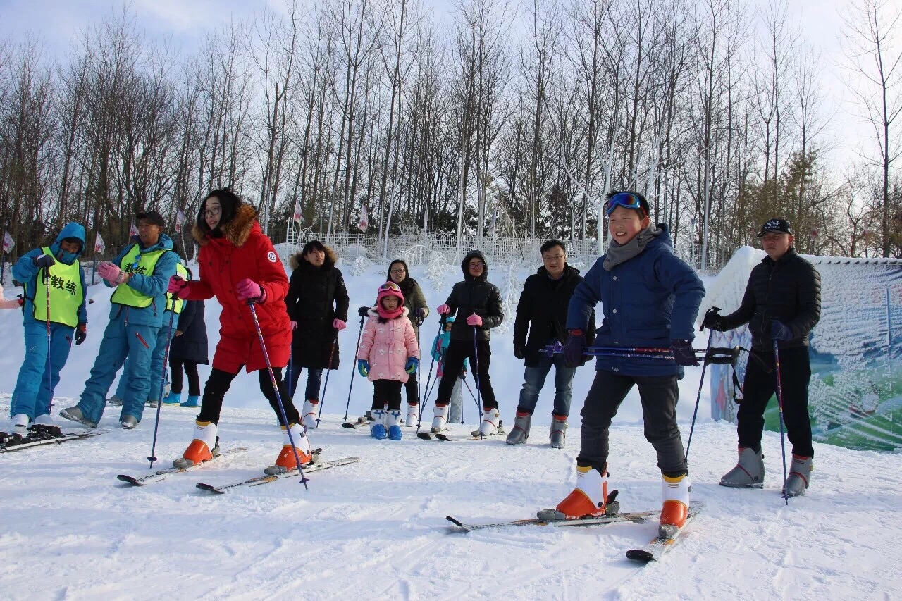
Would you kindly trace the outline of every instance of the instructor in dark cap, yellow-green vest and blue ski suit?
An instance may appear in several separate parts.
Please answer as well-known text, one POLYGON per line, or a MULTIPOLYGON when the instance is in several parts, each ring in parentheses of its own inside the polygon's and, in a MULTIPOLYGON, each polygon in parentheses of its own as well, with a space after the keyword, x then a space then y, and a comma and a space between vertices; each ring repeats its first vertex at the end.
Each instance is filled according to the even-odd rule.
POLYGON ((126 245, 111 263, 97 265, 106 285, 116 289, 110 321, 81 401, 60 411, 60 417, 88 428, 96 427, 103 416, 106 393, 123 364, 127 380, 119 421, 125 430, 141 421, 151 387, 153 348, 163 327, 166 288, 176 273, 179 255, 171 252, 172 240, 162 233, 165 221, 159 213, 139 213, 136 222, 138 236, 133 244, 126 245))

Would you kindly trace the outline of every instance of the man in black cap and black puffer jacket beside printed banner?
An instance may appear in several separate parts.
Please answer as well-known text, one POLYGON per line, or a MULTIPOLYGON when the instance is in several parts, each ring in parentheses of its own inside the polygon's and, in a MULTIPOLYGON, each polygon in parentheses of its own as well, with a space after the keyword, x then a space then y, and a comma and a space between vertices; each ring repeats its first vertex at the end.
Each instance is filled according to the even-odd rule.
POLYGON ((783 417, 792 443, 792 466, 785 484, 787 496, 804 495, 811 483, 811 418, 808 416, 808 381, 811 364, 808 335, 821 318, 821 275, 796 254, 792 227, 786 219, 770 219, 758 233, 768 255, 749 276, 738 310, 730 315, 709 313, 704 327, 717 331, 749 324, 751 352, 742 388, 739 425, 739 463, 721 478, 721 485, 739 488, 764 486, 761 433, 764 411, 780 384, 783 417), (781 382, 777 381, 774 342, 778 343, 781 382))

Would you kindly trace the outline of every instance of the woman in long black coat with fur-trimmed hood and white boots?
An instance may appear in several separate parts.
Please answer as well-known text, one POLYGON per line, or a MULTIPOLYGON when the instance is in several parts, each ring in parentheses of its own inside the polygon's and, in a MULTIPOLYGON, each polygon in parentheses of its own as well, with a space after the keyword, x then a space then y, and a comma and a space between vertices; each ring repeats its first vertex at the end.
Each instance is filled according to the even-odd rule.
POLYGON ((317 427, 319 383, 324 369, 338 369, 338 332, 347 327, 345 279, 335 266, 336 254, 318 240, 304 245, 289 260, 293 270, 285 304, 294 330, 291 338, 290 391, 293 398, 300 371, 307 368, 301 421, 317 427))

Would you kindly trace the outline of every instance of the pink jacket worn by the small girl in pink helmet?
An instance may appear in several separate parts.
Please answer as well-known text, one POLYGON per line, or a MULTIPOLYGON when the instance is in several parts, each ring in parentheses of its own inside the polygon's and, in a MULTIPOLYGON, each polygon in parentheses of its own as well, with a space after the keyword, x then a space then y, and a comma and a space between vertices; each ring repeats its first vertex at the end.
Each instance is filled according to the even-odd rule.
POLYGON ((407 382, 408 374, 404 365, 408 357, 419 359, 417 335, 413 331, 408 310, 405 307, 400 317, 379 323, 379 313, 375 308, 370 310, 370 319, 366 320, 364 335, 360 339, 358 359, 370 362, 370 374, 367 379, 397 380, 407 382))

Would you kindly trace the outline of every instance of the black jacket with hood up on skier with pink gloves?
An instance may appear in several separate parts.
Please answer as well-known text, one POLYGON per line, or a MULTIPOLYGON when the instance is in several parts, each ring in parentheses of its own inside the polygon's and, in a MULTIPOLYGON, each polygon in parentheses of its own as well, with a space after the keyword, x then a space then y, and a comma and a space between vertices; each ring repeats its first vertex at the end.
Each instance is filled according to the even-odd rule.
POLYGON ((483 318, 483 325, 476 328, 476 336, 481 340, 489 340, 492 338, 489 329, 500 326, 504 319, 502 294, 494 284, 488 282, 489 264, 485 263, 485 256, 478 250, 467 253, 460 267, 464 272, 464 281, 454 285, 445 301, 451 308, 450 314, 456 315, 451 327, 451 339, 473 340, 473 326, 468 326, 466 319, 475 314, 483 318), (483 273, 478 278, 470 275, 467 268, 471 259, 479 259, 485 264, 483 273))

